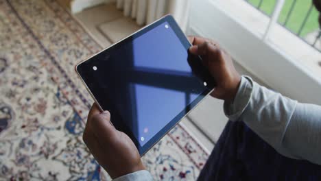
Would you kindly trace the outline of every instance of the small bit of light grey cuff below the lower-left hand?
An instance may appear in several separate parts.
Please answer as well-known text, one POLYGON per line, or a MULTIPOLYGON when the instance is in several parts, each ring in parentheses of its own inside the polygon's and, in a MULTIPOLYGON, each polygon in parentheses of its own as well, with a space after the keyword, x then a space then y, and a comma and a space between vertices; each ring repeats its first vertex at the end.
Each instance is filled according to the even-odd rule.
POLYGON ((115 178, 114 181, 152 181, 152 175, 147 170, 135 171, 125 176, 115 178))

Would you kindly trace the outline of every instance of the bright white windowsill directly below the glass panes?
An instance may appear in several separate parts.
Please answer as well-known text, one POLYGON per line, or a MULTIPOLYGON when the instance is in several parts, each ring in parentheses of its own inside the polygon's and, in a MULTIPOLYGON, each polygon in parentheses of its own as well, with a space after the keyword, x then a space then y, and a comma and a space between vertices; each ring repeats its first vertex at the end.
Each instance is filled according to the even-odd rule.
MULTIPOLYGON (((245 1, 215 1, 222 10, 228 12, 230 16, 237 19, 246 28, 262 37, 268 26, 270 18, 259 12, 245 1)), ((313 72, 318 79, 321 79, 321 53, 289 32, 281 25, 275 25, 268 38, 268 43, 276 49, 283 51, 292 60, 298 61, 306 69, 313 72)))

